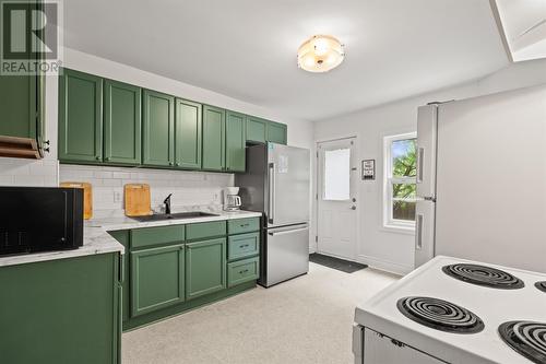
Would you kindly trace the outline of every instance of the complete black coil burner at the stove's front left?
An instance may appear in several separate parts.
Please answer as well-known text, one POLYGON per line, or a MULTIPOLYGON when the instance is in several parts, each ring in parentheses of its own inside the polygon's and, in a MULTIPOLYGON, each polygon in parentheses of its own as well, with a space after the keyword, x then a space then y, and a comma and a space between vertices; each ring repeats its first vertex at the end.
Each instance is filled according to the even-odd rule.
POLYGON ((443 300, 413 296, 399 300, 396 306, 407 318, 436 330, 476 333, 484 329, 475 314, 443 300))

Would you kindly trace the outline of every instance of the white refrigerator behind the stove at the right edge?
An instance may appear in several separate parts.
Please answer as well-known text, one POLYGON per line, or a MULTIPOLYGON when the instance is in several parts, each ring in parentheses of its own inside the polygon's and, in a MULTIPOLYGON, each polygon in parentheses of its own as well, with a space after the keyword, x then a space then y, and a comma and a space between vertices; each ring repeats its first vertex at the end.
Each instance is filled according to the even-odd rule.
POLYGON ((415 266, 546 272, 546 85, 418 108, 415 266))

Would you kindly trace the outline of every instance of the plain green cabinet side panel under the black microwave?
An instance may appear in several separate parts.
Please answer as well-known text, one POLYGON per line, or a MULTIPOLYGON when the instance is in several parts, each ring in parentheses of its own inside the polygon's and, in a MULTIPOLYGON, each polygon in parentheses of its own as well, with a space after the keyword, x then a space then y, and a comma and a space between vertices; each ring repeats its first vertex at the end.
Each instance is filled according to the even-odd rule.
POLYGON ((0 362, 119 363, 119 254, 0 267, 0 362))

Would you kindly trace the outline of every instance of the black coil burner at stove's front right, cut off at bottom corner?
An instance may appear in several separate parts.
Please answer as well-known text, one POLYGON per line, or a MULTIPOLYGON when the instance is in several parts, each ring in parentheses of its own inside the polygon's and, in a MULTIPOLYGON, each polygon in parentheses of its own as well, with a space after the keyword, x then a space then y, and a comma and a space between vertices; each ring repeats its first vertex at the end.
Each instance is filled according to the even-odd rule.
POLYGON ((499 326, 500 338, 533 363, 546 363, 546 324, 508 321, 499 326))

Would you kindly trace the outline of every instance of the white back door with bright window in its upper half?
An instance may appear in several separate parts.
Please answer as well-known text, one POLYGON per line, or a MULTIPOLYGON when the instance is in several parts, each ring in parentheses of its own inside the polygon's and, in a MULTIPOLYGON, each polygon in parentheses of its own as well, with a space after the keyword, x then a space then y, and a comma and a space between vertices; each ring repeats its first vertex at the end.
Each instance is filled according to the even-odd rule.
POLYGON ((318 253, 356 259, 356 138, 318 143, 318 253))

